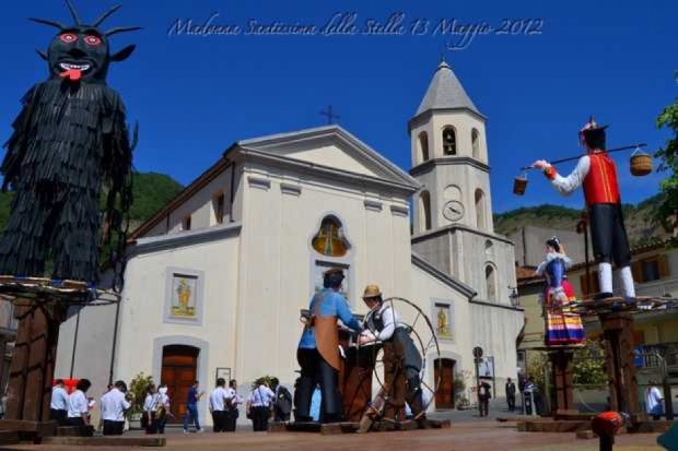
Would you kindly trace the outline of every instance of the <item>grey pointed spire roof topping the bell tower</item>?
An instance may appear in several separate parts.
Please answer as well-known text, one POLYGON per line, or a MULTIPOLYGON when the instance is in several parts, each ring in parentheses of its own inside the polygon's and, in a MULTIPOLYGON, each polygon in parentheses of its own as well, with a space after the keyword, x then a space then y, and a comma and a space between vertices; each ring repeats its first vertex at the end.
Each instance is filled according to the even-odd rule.
MULTIPOLYGON (((480 115, 452 68, 442 61, 433 75, 417 116, 430 109, 468 108, 480 115)), ((481 115, 482 116, 482 115, 481 115)))

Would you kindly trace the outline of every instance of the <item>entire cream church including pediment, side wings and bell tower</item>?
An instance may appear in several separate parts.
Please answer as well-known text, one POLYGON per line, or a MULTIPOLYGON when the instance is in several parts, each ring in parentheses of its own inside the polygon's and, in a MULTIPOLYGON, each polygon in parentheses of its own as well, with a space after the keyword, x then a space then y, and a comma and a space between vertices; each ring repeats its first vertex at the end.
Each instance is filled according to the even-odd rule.
POLYGON ((218 376, 241 394, 264 375, 291 388, 300 309, 340 266, 355 313, 378 284, 431 318, 440 355, 425 356, 425 378, 442 383, 430 408, 453 407, 455 377, 472 383, 475 346, 498 384, 515 378, 513 245, 493 233, 484 117, 447 64, 409 130, 410 174, 338 126, 231 145, 135 232, 121 301, 62 325, 55 377, 97 390, 143 371, 177 403, 194 379, 209 390, 218 376))

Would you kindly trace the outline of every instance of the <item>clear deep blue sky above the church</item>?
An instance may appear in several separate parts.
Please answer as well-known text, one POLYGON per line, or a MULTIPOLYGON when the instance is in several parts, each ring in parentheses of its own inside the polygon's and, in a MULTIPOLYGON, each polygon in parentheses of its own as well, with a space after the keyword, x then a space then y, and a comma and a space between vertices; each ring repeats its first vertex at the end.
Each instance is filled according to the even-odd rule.
MULTIPOLYGON (((115 4, 74 0, 86 20, 115 4)), ((70 22, 60 0, 4 2, 0 52, 0 140, 11 133, 25 91, 47 75, 34 49, 55 29, 28 16, 70 22)), ((581 207, 581 193, 561 198, 539 174, 525 197, 512 193, 518 167, 539 157, 581 153, 577 130, 591 114, 610 123, 610 147, 646 142, 655 151, 668 137, 656 116, 678 96, 678 2, 358 0, 137 0, 124 2, 107 26, 144 29, 112 37, 114 50, 137 44, 113 67, 108 83, 121 93, 130 121, 140 123, 136 166, 189 183, 234 141, 325 124, 332 105, 338 123, 401 168, 410 167, 407 121, 419 106, 441 54, 480 111, 489 118, 492 202, 495 212, 558 203, 581 207), (238 25, 230 36, 168 34, 177 20, 238 25), (324 35, 336 14, 386 23, 401 14, 401 35, 324 35), (441 20, 500 28, 526 20, 531 35, 490 32, 468 45, 460 35, 433 33, 441 20), (315 25, 306 36, 247 33, 260 24, 315 25), (428 31, 412 24, 429 21, 428 31), (531 21, 531 22, 529 22, 531 21), (463 48, 445 51, 448 44, 463 48)), ((636 178, 629 155, 617 154, 624 202, 658 192, 664 175, 636 178)), ((656 164, 656 161, 655 161, 656 164)), ((559 166, 569 171, 572 164, 559 166)))

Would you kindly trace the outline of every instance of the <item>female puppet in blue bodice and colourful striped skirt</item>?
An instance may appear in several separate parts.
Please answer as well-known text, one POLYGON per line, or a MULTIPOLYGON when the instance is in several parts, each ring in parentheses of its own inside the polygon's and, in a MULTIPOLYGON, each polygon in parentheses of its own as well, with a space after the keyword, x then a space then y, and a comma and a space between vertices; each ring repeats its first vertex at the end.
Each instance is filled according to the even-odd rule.
POLYGON ((546 316, 546 344, 576 344, 584 341, 582 319, 576 313, 563 311, 576 299, 566 271, 572 260, 564 253, 558 237, 546 241, 546 259, 537 268, 537 274, 546 277, 543 306, 546 316))

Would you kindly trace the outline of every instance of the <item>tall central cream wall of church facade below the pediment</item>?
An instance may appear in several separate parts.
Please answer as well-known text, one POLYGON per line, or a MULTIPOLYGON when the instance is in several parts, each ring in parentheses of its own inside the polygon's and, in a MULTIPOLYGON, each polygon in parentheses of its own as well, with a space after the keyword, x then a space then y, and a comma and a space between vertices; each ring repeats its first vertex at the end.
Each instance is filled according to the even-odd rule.
POLYGON ((238 311, 238 367, 243 381, 276 375, 292 385, 299 369, 296 345, 302 332, 299 310, 313 294, 315 260, 349 264, 349 302, 365 312, 364 286, 379 284, 387 296, 410 295, 409 221, 404 199, 329 183, 289 170, 259 167, 245 174, 242 289, 238 311), (294 186, 294 189, 291 187, 294 186), (365 201, 369 200, 369 206, 365 201), (394 205, 396 211, 391 210, 394 205), (326 215, 335 215, 352 248, 346 258, 318 254, 311 241, 326 215), (270 349, 266 358, 247 349, 270 349))

